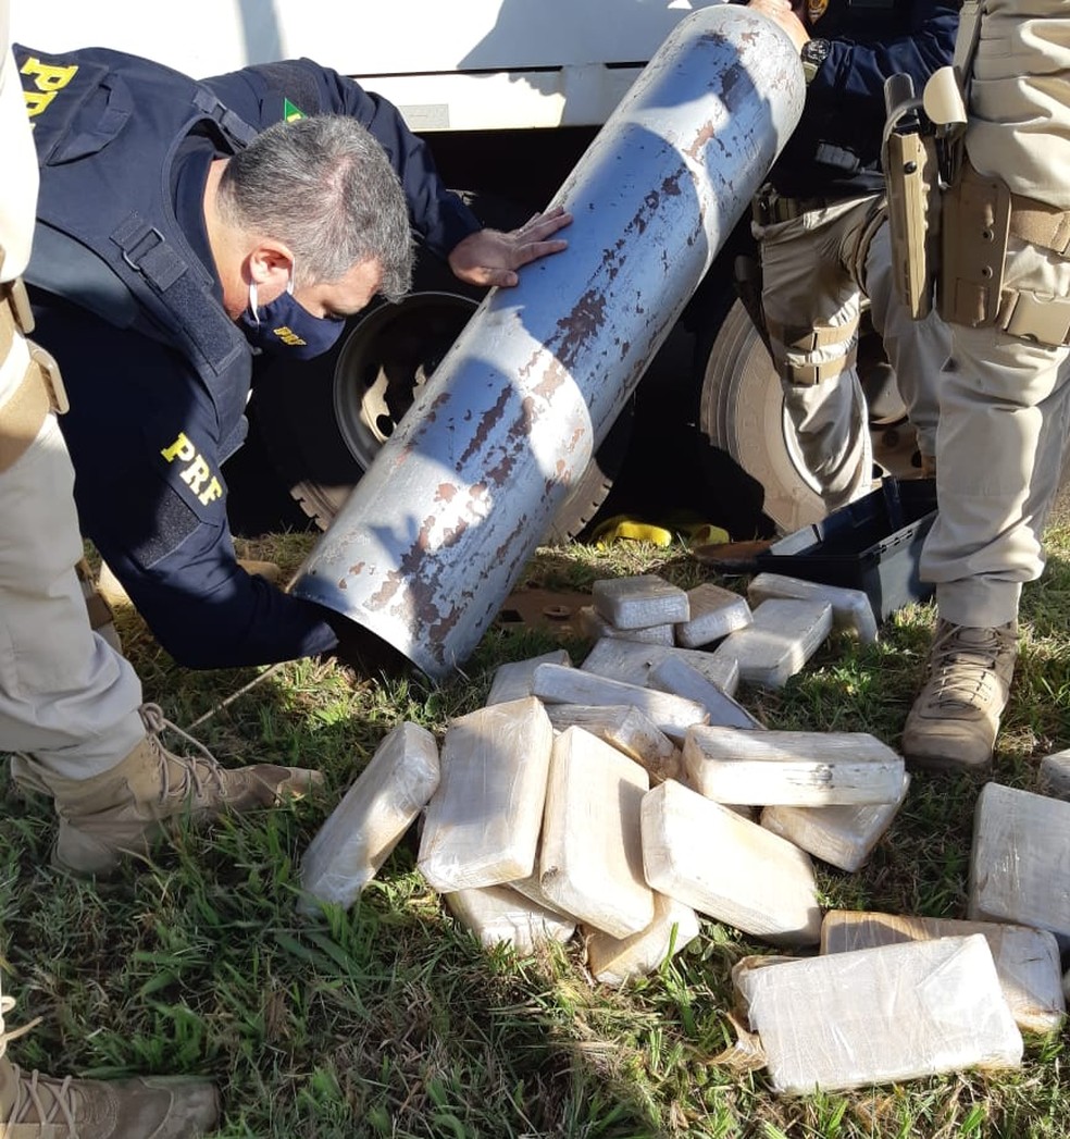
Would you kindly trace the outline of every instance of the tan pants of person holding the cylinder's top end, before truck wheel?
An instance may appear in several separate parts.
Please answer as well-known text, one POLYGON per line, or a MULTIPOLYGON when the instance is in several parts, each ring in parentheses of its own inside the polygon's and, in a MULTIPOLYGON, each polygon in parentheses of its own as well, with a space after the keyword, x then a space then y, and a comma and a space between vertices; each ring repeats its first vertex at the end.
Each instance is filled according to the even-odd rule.
POLYGON ((762 303, 773 327, 810 328, 832 343, 792 347, 771 335, 784 402, 807 468, 830 509, 871 487, 869 413, 853 363, 838 376, 795 383, 822 364, 854 359, 863 297, 896 374, 922 453, 936 453, 936 380, 950 341, 936 316, 913 321, 892 288, 887 222, 870 224, 876 196, 810 210, 789 221, 754 226, 762 245, 762 303), (866 244, 866 238, 872 235, 866 244), (833 330, 823 336, 825 330, 833 330))

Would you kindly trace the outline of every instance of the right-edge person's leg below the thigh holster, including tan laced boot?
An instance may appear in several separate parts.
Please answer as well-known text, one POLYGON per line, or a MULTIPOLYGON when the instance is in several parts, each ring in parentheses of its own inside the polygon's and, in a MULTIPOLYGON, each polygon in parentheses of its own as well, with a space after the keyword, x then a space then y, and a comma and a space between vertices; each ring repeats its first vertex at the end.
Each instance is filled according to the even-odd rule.
MULTIPOLYGON (((1070 296, 1070 261, 1014 243, 1006 285, 1070 296)), ((1068 424, 1070 350, 952 327, 940 377, 937 494, 922 552, 939 621, 903 751, 928 767, 985 768, 1010 695, 1023 582, 1044 568, 1044 519, 1068 424)))

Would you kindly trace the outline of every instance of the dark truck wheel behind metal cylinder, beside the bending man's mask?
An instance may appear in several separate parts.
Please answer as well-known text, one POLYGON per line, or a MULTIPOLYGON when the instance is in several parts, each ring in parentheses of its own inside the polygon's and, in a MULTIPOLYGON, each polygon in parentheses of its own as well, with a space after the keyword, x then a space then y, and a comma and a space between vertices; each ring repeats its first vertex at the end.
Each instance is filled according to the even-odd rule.
MULTIPOLYGON (((354 318, 334 351, 301 364, 265 361, 250 429, 290 495, 326 530, 389 439, 415 393, 475 312, 462 292, 417 292, 354 318)), ((544 538, 563 544, 594 517, 627 451, 631 411, 617 420, 544 538)))

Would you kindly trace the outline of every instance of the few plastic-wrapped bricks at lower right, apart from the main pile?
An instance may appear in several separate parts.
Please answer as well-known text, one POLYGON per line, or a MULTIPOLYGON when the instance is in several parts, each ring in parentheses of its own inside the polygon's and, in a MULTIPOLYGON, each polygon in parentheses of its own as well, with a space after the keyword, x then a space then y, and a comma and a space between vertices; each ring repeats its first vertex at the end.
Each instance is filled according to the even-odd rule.
POLYGON ((1056 753, 1042 762, 1050 794, 982 788, 968 920, 833 910, 822 924, 821 956, 736 966, 742 1014, 774 1089, 834 1091, 964 1067, 1014 1068, 1023 1031, 1061 1029, 1070 991, 1060 962, 1070 949, 1070 803, 1061 801, 1070 796, 1068 761, 1070 753, 1056 753))

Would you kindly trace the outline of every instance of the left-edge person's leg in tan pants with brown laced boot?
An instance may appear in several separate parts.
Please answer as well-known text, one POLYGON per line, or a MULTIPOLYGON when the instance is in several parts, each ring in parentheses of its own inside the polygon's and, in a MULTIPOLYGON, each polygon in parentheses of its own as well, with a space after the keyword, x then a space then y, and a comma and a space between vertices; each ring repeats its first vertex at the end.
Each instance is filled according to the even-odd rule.
POLYGON ((160 746, 158 710, 141 704, 130 664, 90 629, 74 568, 74 470, 56 417, 42 409, 27 420, 43 386, 14 312, 0 297, 0 747, 20 753, 16 782, 55 802, 54 862, 107 874, 166 819, 268 806, 314 777, 273 764, 227 770, 160 746))

